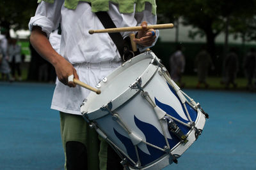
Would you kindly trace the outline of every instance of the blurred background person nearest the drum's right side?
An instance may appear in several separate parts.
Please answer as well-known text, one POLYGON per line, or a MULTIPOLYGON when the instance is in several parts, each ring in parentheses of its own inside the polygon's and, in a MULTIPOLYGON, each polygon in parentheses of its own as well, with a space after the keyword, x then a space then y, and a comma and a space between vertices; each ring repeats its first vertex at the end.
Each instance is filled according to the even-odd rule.
POLYGON ((173 81, 179 83, 181 88, 184 87, 185 83, 183 83, 181 79, 185 70, 186 59, 182 53, 181 46, 177 46, 176 51, 170 57, 169 64, 173 81))

